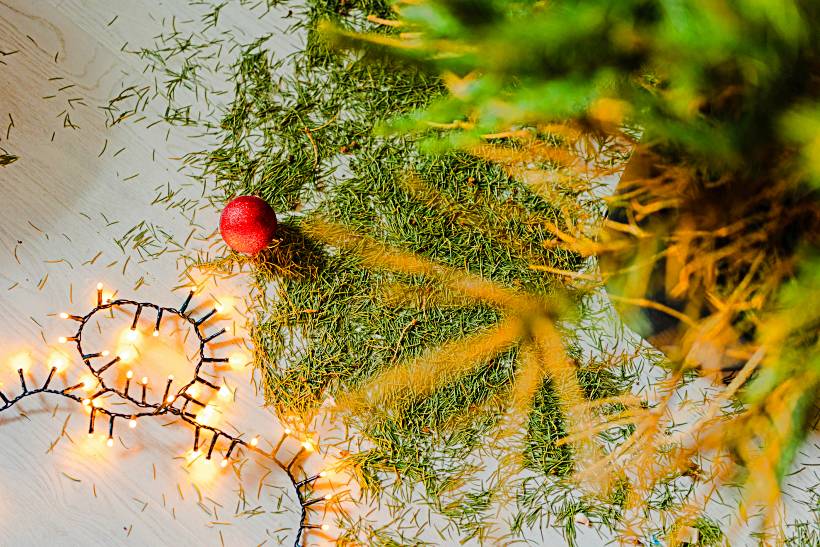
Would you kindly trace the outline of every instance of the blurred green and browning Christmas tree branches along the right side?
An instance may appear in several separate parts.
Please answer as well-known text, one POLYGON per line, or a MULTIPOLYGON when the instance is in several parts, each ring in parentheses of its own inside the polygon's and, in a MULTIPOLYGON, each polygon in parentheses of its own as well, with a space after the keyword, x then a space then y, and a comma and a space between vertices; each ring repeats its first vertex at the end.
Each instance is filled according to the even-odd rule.
MULTIPOLYGON (((493 161, 543 196, 607 177, 613 145, 632 151, 606 219, 549 228, 557 248, 596 258, 626 323, 668 358, 652 410, 630 414, 632 435, 591 467, 628 477, 626 528, 697 460, 699 482, 743 485, 742 521, 762 508, 755 526, 782 537, 781 487, 820 405, 820 4, 395 8, 401 34, 327 28, 338 45, 442 75, 449 93, 388 131, 421 135, 433 154, 493 161), (726 388, 676 428, 673 393, 691 370, 726 388)), ((570 430, 580 438, 588 425, 570 430)), ((712 495, 670 514, 692 522, 712 495)))

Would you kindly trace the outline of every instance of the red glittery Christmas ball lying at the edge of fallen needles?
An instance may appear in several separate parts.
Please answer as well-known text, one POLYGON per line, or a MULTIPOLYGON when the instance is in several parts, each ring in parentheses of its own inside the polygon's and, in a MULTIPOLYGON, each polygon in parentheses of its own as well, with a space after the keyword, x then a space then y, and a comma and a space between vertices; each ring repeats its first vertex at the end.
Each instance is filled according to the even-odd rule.
POLYGON ((276 233, 276 213, 261 198, 239 196, 222 210, 219 233, 234 251, 256 254, 268 246, 276 233))

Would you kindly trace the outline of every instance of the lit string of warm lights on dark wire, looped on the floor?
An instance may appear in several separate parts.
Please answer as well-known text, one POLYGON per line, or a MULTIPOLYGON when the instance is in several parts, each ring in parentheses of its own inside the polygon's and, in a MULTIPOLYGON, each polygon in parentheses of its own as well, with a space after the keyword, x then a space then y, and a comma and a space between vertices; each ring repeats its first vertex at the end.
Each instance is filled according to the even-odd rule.
MULTIPOLYGON (((62 319, 67 319, 78 323, 77 332, 73 336, 61 336, 59 341, 62 344, 73 343, 76 345, 77 352, 90 372, 90 376, 85 377, 81 382, 75 385, 68 386, 63 389, 51 387, 54 375, 57 373, 62 374, 68 366, 68 358, 62 353, 55 353, 49 359, 49 374, 45 382, 43 382, 39 387, 31 387, 26 383, 26 372, 30 368, 31 358, 28 355, 26 355, 25 358, 15 357, 12 359, 11 364, 12 368, 16 370, 19 377, 21 391, 18 395, 13 397, 3 391, 0 391, 0 402, 2 402, 2 405, 0 405, 0 412, 9 410, 23 399, 32 395, 49 394, 64 397, 68 400, 79 403, 88 412, 88 435, 90 437, 93 437, 95 434, 95 427, 97 426, 98 420, 105 420, 107 418, 108 427, 105 431, 107 434, 105 444, 108 447, 112 447, 114 445, 114 430, 116 424, 120 421, 127 423, 130 429, 134 429, 137 427, 138 421, 142 418, 163 415, 174 416, 193 429, 194 442, 193 450, 191 452, 192 459, 202 457, 203 445, 207 445, 207 451, 204 453, 205 461, 210 462, 217 447, 223 446, 227 447, 227 449, 225 450, 224 456, 220 461, 220 466, 227 467, 230 464, 231 457, 237 448, 243 448, 270 459, 285 473, 290 480, 291 486, 293 487, 296 494, 296 499, 298 500, 300 506, 299 523, 296 528, 296 537, 294 539, 295 547, 299 547, 299 545, 301 545, 302 539, 308 530, 326 531, 329 528, 327 524, 316 524, 308 521, 309 509, 314 505, 327 503, 331 501, 333 497, 328 494, 317 498, 310 498, 309 492, 305 492, 305 489, 306 487, 312 486, 320 478, 328 476, 328 473, 323 471, 321 473, 305 476, 304 478, 299 479, 297 475, 300 473, 305 473, 301 468, 295 470, 295 464, 302 457, 302 455, 312 452, 315 449, 313 441, 311 439, 304 440, 301 443, 298 452, 296 452, 290 461, 283 462, 279 459, 278 453, 285 443, 285 440, 293 433, 290 428, 285 428, 282 436, 274 445, 273 450, 266 452, 259 448, 258 436, 246 441, 242 438, 241 434, 233 434, 211 425, 213 413, 215 412, 213 405, 203 404, 197 398, 201 389, 212 390, 223 399, 230 398, 232 395, 230 388, 226 385, 223 384, 218 386, 204 378, 201 375, 201 373, 204 372, 203 367, 220 363, 229 364, 232 368, 239 368, 244 365, 244 360, 237 354, 231 355, 230 358, 205 355, 207 344, 224 334, 225 329, 223 328, 211 334, 206 334, 204 332, 204 324, 215 314, 221 314, 223 308, 220 305, 217 305, 217 307, 213 310, 198 318, 194 318, 192 317, 192 312, 187 312, 195 294, 195 291, 193 290, 188 293, 179 309, 175 309, 160 307, 151 302, 137 302, 135 300, 127 299, 111 300, 110 298, 104 297, 103 289, 104 286, 102 283, 97 284, 97 304, 88 314, 80 316, 64 312, 59 315, 62 319), (138 396, 135 396, 132 393, 133 390, 131 389, 131 384, 134 380, 134 372, 132 370, 128 370, 126 372, 125 382, 123 382, 120 387, 109 383, 110 380, 107 380, 103 375, 106 370, 116 363, 128 363, 133 361, 137 357, 133 347, 126 346, 124 349, 119 350, 117 352, 118 354, 113 359, 104 362, 102 365, 98 365, 98 363, 109 357, 109 352, 107 350, 87 351, 83 347, 83 330, 86 325, 89 324, 89 320, 94 316, 94 314, 107 310, 113 311, 113 309, 126 308, 135 309, 133 321, 124 336, 129 344, 135 344, 139 341, 139 319, 146 313, 148 313, 148 316, 151 317, 151 312, 155 314, 152 336, 159 336, 161 324, 164 319, 176 316, 184 322, 187 322, 192 327, 193 332, 199 340, 198 359, 196 361, 196 365, 194 366, 192 377, 185 383, 179 383, 179 381, 177 381, 177 385, 179 387, 172 389, 175 382, 175 377, 173 375, 169 375, 167 377, 162 399, 159 401, 151 401, 149 399, 148 391, 150 381, 147 376, 143 376, 139 382, 137 382, 138 396), (129 348, 131 351, 128 351, 129 348), (241 364, 240 361, 242 361, 241 364), (93 393, 91 395, 80 395, 75 393, 81 388, 86 393, 93 393), (131 412, 125 412, 113 410, 103 406, 104 400, 108 397, 119 397, 121 399, 119 402, 126 401, 130 403, 133 410, 131 412), (191 410, 192 406, 197 408, 197 412, 193 412, 191 410), (210 438, 208 439, 208 437, 210 438), (207 441, 203 443, 203 439, 207 439, 207 441)), ((119 406, 122 405, 118 405, 118 407, 119 406)))

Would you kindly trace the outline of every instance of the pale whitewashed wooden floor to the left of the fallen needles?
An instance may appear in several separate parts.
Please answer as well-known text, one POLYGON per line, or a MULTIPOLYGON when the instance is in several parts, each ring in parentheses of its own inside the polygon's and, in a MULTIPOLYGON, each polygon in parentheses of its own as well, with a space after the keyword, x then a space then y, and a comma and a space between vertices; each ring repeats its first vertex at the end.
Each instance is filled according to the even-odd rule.
MULTIPOLYGON (((0 167, 0 389, 6 394, 19 391, 10 361, 21 352, 33 360, 29 383, 45 378, 50 353, 64 349, 57 338, 75 328, 55 314, 89 311, 98 281, 123 297, 181 304, 184 292, 174 290, 179 253, 151 259, 120 249, 116 240, 131 227, 145 221, 157 234, 180 243, 187 238, 186 251, 210 245, 218 214, 204 200, 195 223, 152 205, 163 191, 157 188, 186 184, 176 158, 192 145, 176 135, 166 139, 161 124, 106 127, 100 108, 123 82, 152 77, 121 49, 126 42, 150 45, 160 21, 170 17, 201 17, 201 8, 187 1, 0 1, 0 154, 19 158, 0 167)), ((276 13, 259 19, 226 10, 225 17, 280 40, 276 13)), ((284 37, 281 43, 292 47, 284 37)), ((200 188, 189 186, 199 199, 200 188)), ((246 292, 239 276, 207 285, 200 303, 234 295, 239 307, 246 292)), ((241 325, 223 322, 231 331, 241 325)), ((243 346, 241 328, 235 334, 236 348, 223 348, 226 353, 243 346)), ((136 374, 163 382, 169 365, 155 361, 135 364, 136 374)), ((73 382, 81 367, 74 358, 65 381, 73 382)), ((234 404, 222 405, 221 421, 260 434, 265 446, 282 428, 263 408, 250 370, 225 371, 237 392, 234 404)), ((192 433, 167 419, 119 430, 108 448, 104 436, 87 438, 87 415, 67 402, 24 401, 21 410, 0 416, 0 545, 279 545, 293 535, 298 513, 289 483, 269 462, 247 463, 239 479, 238 469, 188 466, 183 456, 192 433), (67 435, 51 449, 64 425, 67 435), (245 504, 238 502, 240 485, 245 504)), ((283 453, 297 447, 289 442, 283 453)), ((329 544, 333 532, 313 533, 308 544, 329 544)))

